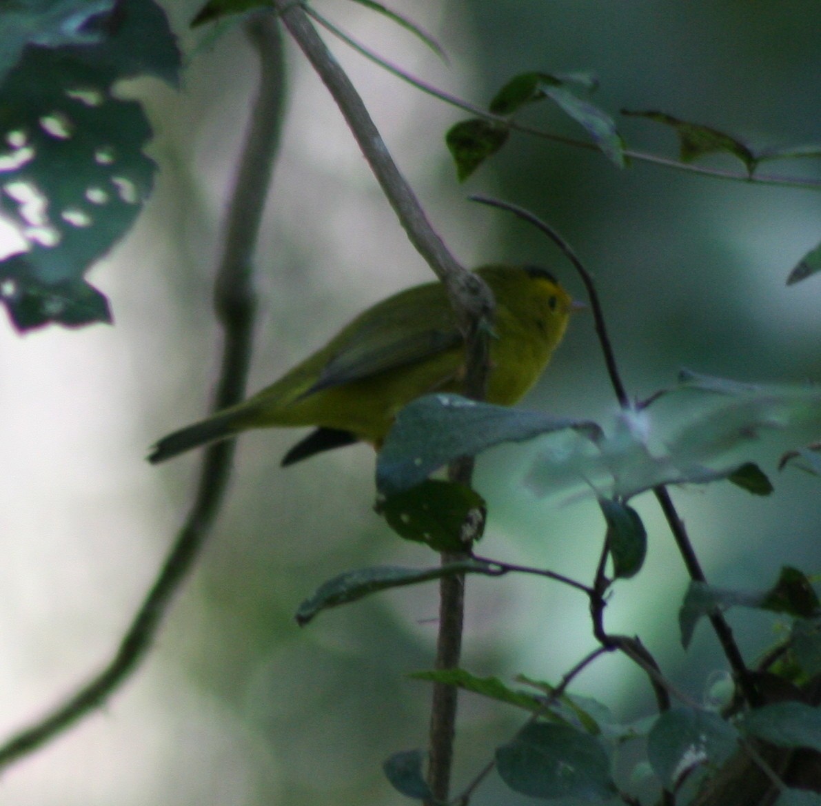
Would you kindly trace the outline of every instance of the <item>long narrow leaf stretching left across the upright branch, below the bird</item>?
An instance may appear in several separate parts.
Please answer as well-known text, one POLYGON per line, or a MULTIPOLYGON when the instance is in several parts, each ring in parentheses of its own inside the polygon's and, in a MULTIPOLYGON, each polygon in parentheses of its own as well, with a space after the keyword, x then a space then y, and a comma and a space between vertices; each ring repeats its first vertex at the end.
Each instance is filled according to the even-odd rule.
POLYGON ((319 586, 313 596, 302 602, 296 610, 296 623, 300 627, 331 607, 358 601, 371 593, 387 591, 392 587, 418 585, 433 579, 452 577, 462 573, 484 573, 495 576, 498 572, 486 563, 464 560, 435 568, 410 569, 395 565, 381 565, 341 573, 319 586))

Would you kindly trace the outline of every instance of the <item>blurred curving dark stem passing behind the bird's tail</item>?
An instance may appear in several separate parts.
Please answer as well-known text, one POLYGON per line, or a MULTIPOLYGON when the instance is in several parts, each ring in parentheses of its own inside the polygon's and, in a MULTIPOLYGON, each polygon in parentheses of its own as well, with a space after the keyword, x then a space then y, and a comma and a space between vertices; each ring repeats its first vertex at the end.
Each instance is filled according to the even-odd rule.
MULTIPOLYGON (((215 408, 236 403, 245 392, 254 311, 250 257, 282 119, 285 68, 278 25, 268 16, 257 16, 248 21, 245 30, 259 55, 259 91, 228 208, 225 249, 218 269, 215 306, 225 331, 225 346, 215 408)), ((231 442, 222 442, 205 454, 190 514, 108 666, 42 720, 8 739, 0 747, 0 767, 33 752, 102 705, 140 665, 218 514, 227 487, 232 450, 231 442)))

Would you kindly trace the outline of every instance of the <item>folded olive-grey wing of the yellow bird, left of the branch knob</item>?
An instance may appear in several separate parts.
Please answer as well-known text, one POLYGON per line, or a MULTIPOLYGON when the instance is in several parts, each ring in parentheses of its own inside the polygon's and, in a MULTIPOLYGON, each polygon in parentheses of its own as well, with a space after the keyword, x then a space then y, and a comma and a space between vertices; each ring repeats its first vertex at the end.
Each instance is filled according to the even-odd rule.
POLYGON ((460 344, 456 318, 437 285, 412 289, 412 306, 398 295, 352 322, 328 345, 333 350, 305 395, 422 362, 460 344))

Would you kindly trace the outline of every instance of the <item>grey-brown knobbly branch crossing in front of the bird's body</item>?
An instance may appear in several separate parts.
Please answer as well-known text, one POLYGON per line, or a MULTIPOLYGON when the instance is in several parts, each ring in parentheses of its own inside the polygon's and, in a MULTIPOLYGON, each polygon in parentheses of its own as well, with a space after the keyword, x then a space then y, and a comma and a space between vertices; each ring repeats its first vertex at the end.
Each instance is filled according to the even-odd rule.
MULTIPOLYGON (((360 95, 319 37, 305 8, 293 0, 273 0, 273 6, 345 117, 411 244, 445 284, 466 342, 465 394, 470 398, 484 398, 490 369, 488 323, 493 317, 493 294, 477 274, 459 265, 429 223, 415 193, 393 162, 360 95)), ((450 477, 466 485, 470 485, 472 472, 472 459, 457 460, 449 467, 450 477)), ((467 542, 464 553, 443 554, 441 561, 447 564, 464 559, 469 556, 469 550, 470 542, 467 542)), ((452 669, 459 664, 464 598, 464 577, 441 580, 437 669, 452 669)), ((428 783, 434 801, 447 800, 450 790, 456 702, 456 689, 441 683, 433 685, 428 783)))

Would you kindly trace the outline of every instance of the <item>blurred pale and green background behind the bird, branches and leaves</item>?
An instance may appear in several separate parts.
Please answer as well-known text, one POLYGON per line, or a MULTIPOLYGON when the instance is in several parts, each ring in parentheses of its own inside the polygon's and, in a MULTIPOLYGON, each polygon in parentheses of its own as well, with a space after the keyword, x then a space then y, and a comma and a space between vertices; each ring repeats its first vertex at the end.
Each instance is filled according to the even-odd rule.
MULTIPOLYGON (((108 661, 186 515, 200 457, 144 462, 158 436, 200 417, 216 372, 210 309, 227 187, 255 90, 241 29, 198 47, 195 2, 166 2, 190 63, 178 94, 154 81, 158 187, 131 236, 94 269, 114 327, 51 328, 19 338, 0 324, 0 725, 43 713, 108 661)), ((401 12, 437 36, 443 64, 388 21, 343 0, 317 7, 416 76, 479 104, 521 71, 595 71, 596 102, 657 108, 759 147, 818 143, 814 0, 412 0, 401 12)), ((456 256, 551 266, 582 289, 553 247, 506 214, 466 200, 486 192, 553 223, 594 271, 621 371, 644 397, 686 366, 738 380, 821 380, 821 283, 787 288, 819 239, 817 192, 722 182, 514 135, 465 186, 443 135, 466 117, 332 43, 398 163, 456 256)), ((319 81, 289 43, 290 100, 259 249, 259 328, 250 389, 319 347, 355 312, 429 269, 369 175, 319 81)), ((578 134, 547 108, 532 122, 578 134)), ((672 133, 621 121, 628 145, 674 156, 672 133)), ((729 159, 720 168, 741 170, 729 159)), ((764 173, 821 178, 803 163, 764 173)), ((614 400, 592 332, 573 321, 526 401, 557 415, 608 421, 614 400)), ((227 505, 144 666, 108 706, 12 767, 11 806, 401 803, 384 780, 389 754, 426 744, 437 591, 374 596, 321 615, 293 613, 325 579, 369 564, 429 564, 373 513, 374 456, 355 447, 286 470, 300 432, 246 435, 227 505)), ((809 440, 818 435, 805 435, 809 440)), ((757 588, 777 567, 816 572, 819 481, 775 469, 789 445, 755 445, 776 485, 759 499, 728 484, 674 491, 709 580, 757 588)), ((540 500, 521 480, 538 444, 481 459, 490 505, 482 553, 588 581, 603 537, 592 500, 540 500)), ((638 578, 617 585, 608 629, 638 634, 663 669, 701 699, 725 664, 702 624, 689 652, 676 614, 686 575, 654 500, 635 506, 649 531, 638 578)), ((782 634, 777 619, 732 612, 750 660, 782 634)), ((534 578, 470 579, 464 666, 507 682, 554 683, 594 647, 586 601, 534 578)), ((576 681, 623 720, 648 713, 639 673, 608 657, 576 681)), ((521 714, 461 700, 456 786, 521 725, 521 714)), ((530 802, 493 777, 475 804, 530 802)))

